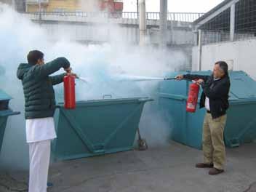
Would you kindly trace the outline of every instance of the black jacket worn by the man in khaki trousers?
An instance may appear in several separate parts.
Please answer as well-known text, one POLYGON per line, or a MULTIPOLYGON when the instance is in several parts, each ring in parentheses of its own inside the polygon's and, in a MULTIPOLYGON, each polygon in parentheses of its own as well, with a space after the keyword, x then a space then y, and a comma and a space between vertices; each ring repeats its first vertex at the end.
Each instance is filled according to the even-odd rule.
POLYGON ((203 79, 201 84, 203 92, 201 94, 200 108, 204 108, 205 98, 209 98, 209 108, 211 109, 212 119, 217 119, 225 115, 228 104, 228 93, 231 87, 229 76, 226 75, 222 79, 214 80, 213 76, 184 75, 184 79, 195 80, 203 79))

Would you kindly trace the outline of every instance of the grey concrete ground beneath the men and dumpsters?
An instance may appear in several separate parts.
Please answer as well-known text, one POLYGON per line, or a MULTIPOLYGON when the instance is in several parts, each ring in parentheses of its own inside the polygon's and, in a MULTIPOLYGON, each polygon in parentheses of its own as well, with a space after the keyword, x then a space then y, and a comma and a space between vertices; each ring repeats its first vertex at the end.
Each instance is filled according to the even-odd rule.
MULTIPOLYGON (((256 143, 227 150, 225 173, 196 169, 202 153, 177 143, 52 164, 48 192, 255 192, 256 143)), ((0 191, 27 191, 28 174, 0 175, 0 191)))

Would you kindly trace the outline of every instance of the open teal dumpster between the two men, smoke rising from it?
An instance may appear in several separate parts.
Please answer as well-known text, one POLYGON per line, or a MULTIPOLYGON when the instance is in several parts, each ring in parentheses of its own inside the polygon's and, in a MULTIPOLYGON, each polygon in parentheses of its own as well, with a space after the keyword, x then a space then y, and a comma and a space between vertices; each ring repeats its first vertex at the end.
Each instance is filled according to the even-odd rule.
POLYGON ((55 160, 129 151, 148 97, 90 100, 76 103, 75 110, 63 104, 55 116, 57 139, 52 143, 55 160))

